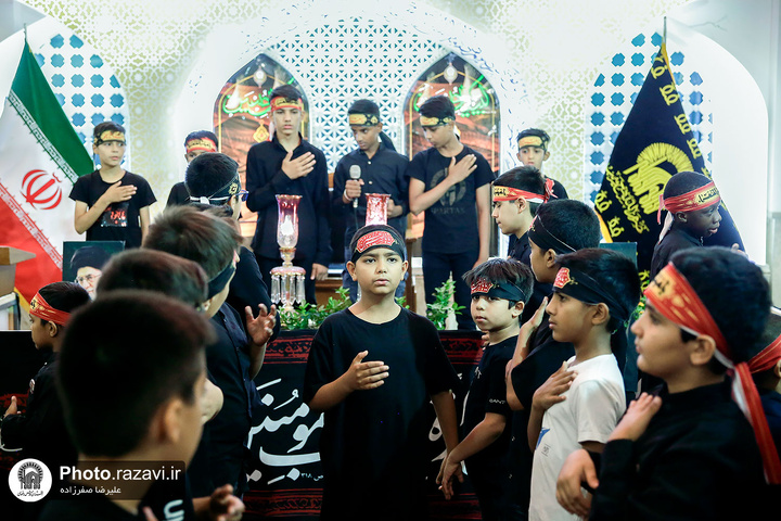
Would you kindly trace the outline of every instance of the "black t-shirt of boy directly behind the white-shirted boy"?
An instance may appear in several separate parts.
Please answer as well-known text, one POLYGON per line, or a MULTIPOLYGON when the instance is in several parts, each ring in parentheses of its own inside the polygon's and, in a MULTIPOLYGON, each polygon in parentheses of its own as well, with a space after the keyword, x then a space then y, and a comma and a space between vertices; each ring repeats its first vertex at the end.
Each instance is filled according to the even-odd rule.
POLYGON ((575 347, 568 342, 556 342, 553 332, 548 328, 548 314, 545 314, 542 323, 529 339, 529 354, 510 373, 513 390, 523 410, 513 414, 512 437, 510 441, 510 487, 516 497, 517 504, 527 506, 532 486, 533 454, 528 447, 526 434, 532 398, 534 393, 551 374, 575 355, 575 347))

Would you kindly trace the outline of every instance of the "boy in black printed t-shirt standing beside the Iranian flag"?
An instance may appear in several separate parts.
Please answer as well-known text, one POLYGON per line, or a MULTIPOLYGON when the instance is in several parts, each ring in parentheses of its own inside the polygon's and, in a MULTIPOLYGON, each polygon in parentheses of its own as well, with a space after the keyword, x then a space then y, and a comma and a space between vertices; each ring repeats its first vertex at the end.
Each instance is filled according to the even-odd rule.
POLYGON ((76 201, 74 226, 88 241, 124 241, 139 247, 150 224, 149 207, 156 201, 149 182, 121 167, 125 128, 112 122, 94 127, 92 151, 101 166, 79 177, 71 190, 76 201))

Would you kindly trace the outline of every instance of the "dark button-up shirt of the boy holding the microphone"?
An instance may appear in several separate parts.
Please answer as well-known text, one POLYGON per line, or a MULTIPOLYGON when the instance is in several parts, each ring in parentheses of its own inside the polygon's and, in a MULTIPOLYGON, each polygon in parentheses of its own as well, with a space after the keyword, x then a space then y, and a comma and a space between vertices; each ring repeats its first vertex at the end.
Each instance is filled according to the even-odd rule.
MULTIPOLYGON (((345 155, 336 164, 334 170, 334 188, 332 192, 333 205, 335 208, 344 207, 342 195, 344 194, 345 183, 350 179, 349 169, 353 165, 361 168, 360 179, 363 181, 361 187, 361 195, 358 198, 358 227, 366 224, 367 213, 367 193, 387 193, 393 199, 394 204, 401 206, 401 215, 388 219, 388 226, 393 226, 405 236, 407 231, 407 213, 409 212, 409 175, 407 174, 407 165, 409 160, 406 155, 401 155, 394 150, 380 144, 372 158, 362 150, 354 150, 345 155)), ((353 240, 356 228, 356 218, 353 214, 353 203, 347 205, 350 209, 344 213, 345 217, 345 244, 349 245, 353 240)))

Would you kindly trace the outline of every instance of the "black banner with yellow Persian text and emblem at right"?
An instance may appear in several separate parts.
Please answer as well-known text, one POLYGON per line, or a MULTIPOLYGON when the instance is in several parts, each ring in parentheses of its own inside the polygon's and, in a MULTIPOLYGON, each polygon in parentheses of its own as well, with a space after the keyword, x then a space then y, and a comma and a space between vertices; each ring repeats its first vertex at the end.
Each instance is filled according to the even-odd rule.
MULTIPOLYGON (((637 242, 638 270, 643 287, 649 282, 651 257, 662 231, 662 225, 657 223, 660 196, 667 180, 684 170, 710 177, 683 112, 663 43, 616 138, 594 202, 605 240, 637 242)), ((738 244, 743 250, 743 241, 724 204, 724 195, 719 213, 719 231, 705 239, 705 244, 738 244)))

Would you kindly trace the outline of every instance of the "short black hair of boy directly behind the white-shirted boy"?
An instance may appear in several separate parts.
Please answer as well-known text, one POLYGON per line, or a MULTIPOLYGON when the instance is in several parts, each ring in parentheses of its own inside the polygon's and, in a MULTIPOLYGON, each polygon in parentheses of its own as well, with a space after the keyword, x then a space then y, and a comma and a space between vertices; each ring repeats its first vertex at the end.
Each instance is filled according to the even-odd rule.
POLYGON ((586 203, 575 199, 555 199, 537 208, 537 218, 546 229, 574 250, 598 247, 602 238, 599 217, 586 203))

